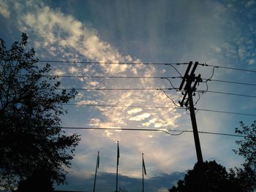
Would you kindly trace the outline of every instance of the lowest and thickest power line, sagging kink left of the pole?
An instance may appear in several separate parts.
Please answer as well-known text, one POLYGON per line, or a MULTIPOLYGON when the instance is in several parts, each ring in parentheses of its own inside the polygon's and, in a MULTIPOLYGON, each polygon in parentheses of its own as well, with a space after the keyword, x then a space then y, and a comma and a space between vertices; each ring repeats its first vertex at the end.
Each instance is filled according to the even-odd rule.
MULTIPOLYGON (((190 130, 173 130, 173 129, 156 129, 156 128, 105 128, 105 127, 61 127, 63 129, 84 129, 84 130, 114 130, 114 131, 162 131, 165 134, 170 136, 178 136, 183 133, 192 133, 193 131, 190 130), (170 134, 169 132, 180 132, 179 134, 170 134)), ((225 133, 217 133, 217 132, 208 132, 208 131, 198 131, 200 134, 216 134, 216 135, 223 135, 229 137, 245 137, 238 134, 225 134, 225 133)))

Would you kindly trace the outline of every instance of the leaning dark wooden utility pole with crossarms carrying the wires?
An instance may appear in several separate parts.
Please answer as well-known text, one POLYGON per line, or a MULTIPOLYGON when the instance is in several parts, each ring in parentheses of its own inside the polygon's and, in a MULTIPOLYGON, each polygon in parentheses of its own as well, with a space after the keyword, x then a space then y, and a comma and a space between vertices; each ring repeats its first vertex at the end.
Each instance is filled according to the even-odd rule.
POLYGON ((194 134, 194 140, 195 140, 195 150, 197 153, 197 162, 200 167, 203 166, 203 155, 200 147, 200 140, 198 136, 197 131, 197 121, 195 118, 195 108, 193 103, 193 95, 195 95, 196 86, 199 82, 202 82, 201 75, 199 74, 197 77, 195 77, 195 69, 197 68, 198 62, 195 62, 192 71, 189 74, 189 71, 192 67, 192 61, 189 62, 189 66, 187 67, 187 70, 184 74, 184 77, 181 81, 181 85, 178 88, 180 91, 182 90, 184 86, 184 82, 186 81, 186 85, 184 86, 184 91, 186 91, 184 94, 184 97, 181 101, 178 101, 178 103, 181 105, 181 107, 188 107, 190 112, 190 118, 192 121, 192 128, 193 128, 193 134, 194 134), (192 82, 195 82, 194 85, 192 85, 192 82))

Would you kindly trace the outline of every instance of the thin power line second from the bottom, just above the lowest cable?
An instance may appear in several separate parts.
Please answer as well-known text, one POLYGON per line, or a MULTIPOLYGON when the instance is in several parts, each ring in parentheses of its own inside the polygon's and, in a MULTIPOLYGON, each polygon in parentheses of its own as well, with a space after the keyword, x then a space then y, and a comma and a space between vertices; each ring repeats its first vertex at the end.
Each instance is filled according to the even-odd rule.
MULTIPOLYGON (((177 109, 177 110, 186 110, 187 109, 186 107, 157 107, 157 106, 139 106, 139 105, 133 106, 133 105, 118 105, 118 104, 64 104, 64 105, 84 106, 84 107, 127 107, 127 108, 177 109)), ((228 112, 228 111, 222 111, 222 110, 208 110, 208 109, 202 109, 202 108, 195 108, 195 110, 256 117, 256 114, 249 114, 249 113, 242 113, 242 112, 228 112)))

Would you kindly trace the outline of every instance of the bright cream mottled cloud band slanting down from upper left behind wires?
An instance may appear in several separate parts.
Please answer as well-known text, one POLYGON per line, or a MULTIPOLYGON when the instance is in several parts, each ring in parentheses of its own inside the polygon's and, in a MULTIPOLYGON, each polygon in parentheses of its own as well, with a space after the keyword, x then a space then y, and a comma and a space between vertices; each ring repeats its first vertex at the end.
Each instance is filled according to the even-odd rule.
MULTIPOLYGON (((18 15, 17 22, 21 31, 26 31, 26 33, 32 36, 32 39, 37 39, 34 42, 34 47, 39 58, 60 61, 84 61, 89 59, 89 61, 98 62, 142 63, 139 59, 132 59, 130 55, 121 55, 118 53, 116 48, 102 41, 97 36, 97 31, 83 25, 83 23, 71 15, 64 15, 60 10, 50 9, 50 7, 42 3, 37 4, 34 1, 33 3, 31 2, 26 1, 25 4, 20 4, 18 1, 15 1, 14 7, 16 9, 12 10, 11 14, 18 15), (24 11, 25 8, 30 11, 24 11)), ((151 65, 97 64, 85 66, 82 64, 63 64, 58 66, 53 65, 53 72, 57 75, 133 75, 135 77, 152 77, 157 74, 157 69, 151 65)), ((62 78, 61 80, 64 79, 62 78)), ((72 85, 82 88, 154 88, 158 87, 159 83, 150 79, 113 81, 77 78, 64 81, 64 87, 72 87, 72 85)), ((167 85, 167 83, 165 82, 164 85, 167 85)), ((84 123, 87 122, 89 126, 104 128, 168 128, 172 126, 172 128, 175 128, 176 119, 180 116, 176 112, 172 102, 161 91, 87 91, 86 93, 80 92, 75 101, 76 104, 120 104, 125 106, 159 106, 161 104, 162 107, 170 107, 167 110, 152 110, 140 107, 132 110, 129 107, 94 107, 94 110, 97 111, 97 116, 84 120, 84 123)), ((78 110, 81 107, 77 107, 78 110)), ((140 132, 136 134, 137 142, 134 141, 132 143, 129 141, 135 137, 133 132, 123 134, 120 131, 108 130, 102 133, 104 133, 102 134, 102 138, 110 142, 120 140, 132 149, 136 149, 137 153, 150 151, 151 148, 156 146, 155 140, 157 137, 152 137, 151 133, 140 132), (144 145, 143 141, 146 142, 148 139, 154 139, 154 142, 144 145)), ((97 138, 98 133, 93 135, 97 138)), ((82 140, 88 139, 88 136, 83 134, 82 140)), ((86 144, 88 147, 91 147, 92 143, 86 144)), ((83 142, 81 145, 83 145, 83 142)), ((101 145, 104 145, 103 142, 101 145)), ((108 145, 110 145, 109 142, 108 145)), ((133 151, 132 153, 136 152, 133 151)), ((162 156, 163 153, 159 153, 159 155, 162 156)), ((129 153, 126 154, 123 152, 122 155, 127 156, 129 153)), ((159 155, 157 155, 157 158, 161 161, 159 155)), ((78 164, 84 160, 86 160, 86 157, 79 153, 75 157, 75 162, 78 164)), ((148 164, 151 161, 153 161, 153 158, 148 158, 148 164)), ((154 161, 157 163, 157 160, 154 161)), ((131 173, 134 172, 132 167, 127 167, 127 174, 129 174, 129 169, 131 173)), ((105 171, 114 172, 114 169, 106 167, 105 171)), ((140 173, 138 172, 132 175, 135 176, 137 174, 140 173)))

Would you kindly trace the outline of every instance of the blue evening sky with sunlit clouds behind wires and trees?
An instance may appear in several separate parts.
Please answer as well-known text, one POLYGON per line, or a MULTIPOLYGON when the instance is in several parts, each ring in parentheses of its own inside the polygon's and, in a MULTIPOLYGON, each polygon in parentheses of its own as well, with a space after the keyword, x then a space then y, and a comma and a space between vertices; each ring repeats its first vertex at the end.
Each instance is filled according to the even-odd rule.
MULTIPOLYGON (((207 85, 201 82, 197 87, 208 90, 200 93, 200 97, 198 93, 193 97, 197 109, 251 114, 198 110, 198 130, 234 134, 241 120, 250 125, 256 116, 255 13, 256 1, 253 0, 1 0, 0 38, 10 47, 25 32, 29 47, 34 47, 40 61, 72 61, 48 62, 51 74, 87 76, 59 78, 63 88, 78 89, 77 97, 70 101, 76 105, 65 106, 68 114, 62 117, 63 127, 191 131, 189 111, 176 108, 182 93, 166 90, 165 94, 159 90, 181 84, 178 77, 184 75, 187 64, 176 64, 198 61, 249 70, 200 65, 195 71, 204 81, 212 76, 207 85), (95 64, 76 63, 78 61, 95 64), (174 64, 176 69, 165 64, 174 64), (171 85, 166 79, 145 77, 176 78, 170 79, 171 85), (102 88, 128 90, 85 90, 102 88), (89 104, 123 107, 90 107, 89 104)), ((45 63, 39 62, 39 65, 45 63)), ((142 153, 147 172, 145 191, 148 192, 167 191, 197 162, 193 134, 188 132, 171 136, 163 131, 65 131, 80 134, 81 141, 72 167, 67 169, 68 184, 56 186, 60 190, 92 191, 99 151, 97 191, 114 191, 117 141, 120 147, 118 186, 127 191, 141 191, 142 153)), ((199 137, 204 161, 216 160, 227 169, 243 162, 233 153, 239 137, 215 134, 199 137)))

